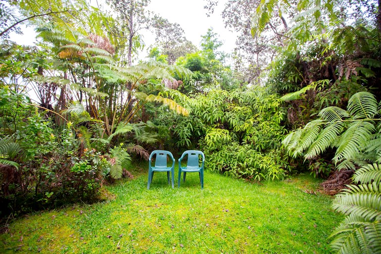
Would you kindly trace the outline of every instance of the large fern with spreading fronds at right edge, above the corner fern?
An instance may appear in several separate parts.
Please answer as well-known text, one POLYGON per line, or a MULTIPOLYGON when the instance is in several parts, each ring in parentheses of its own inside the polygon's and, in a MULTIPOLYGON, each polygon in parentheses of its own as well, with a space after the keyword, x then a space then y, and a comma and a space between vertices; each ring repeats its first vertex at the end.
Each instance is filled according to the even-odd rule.
POLYGON ((381 163, 381 103, 373 94, 358 92, 349 99, 347 110, 327 107, 318 117, 282 141, 292 156, 308 160, 332 147, 337 169, 381 163))

